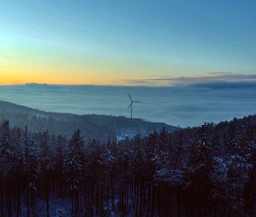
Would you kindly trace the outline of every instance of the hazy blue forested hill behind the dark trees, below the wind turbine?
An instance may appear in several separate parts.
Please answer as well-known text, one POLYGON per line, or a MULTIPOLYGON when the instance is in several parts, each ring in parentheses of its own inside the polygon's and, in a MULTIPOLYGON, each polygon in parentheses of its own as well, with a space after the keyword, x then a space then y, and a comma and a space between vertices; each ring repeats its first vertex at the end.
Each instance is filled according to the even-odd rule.
POLYGON ((170 132, 177 129, 165 123, 150 123, 136 118, 46 112, 0 101, 0 121, 5 119, 9 120, 11 126, 27 126, 32 132, 47 130, 50 134, 64 134, 67 137, 71 137, 74 130, 79 128, 84 140, 101 141, 112 140, 113 137, 121 140, 135 134, 144 136, 154 130, 159 132, 163 127, 170 132))

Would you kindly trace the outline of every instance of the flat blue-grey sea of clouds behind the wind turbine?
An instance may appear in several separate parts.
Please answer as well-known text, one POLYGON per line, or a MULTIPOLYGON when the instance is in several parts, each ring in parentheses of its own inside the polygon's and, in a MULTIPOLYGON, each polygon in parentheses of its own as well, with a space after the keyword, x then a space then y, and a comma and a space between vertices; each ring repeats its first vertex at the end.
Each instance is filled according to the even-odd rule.
POLYGON ((195 83, 184 77, 180 80, 181 84, 172 87, 0 86, 0 100, 44 111, 130 117, 130 93, 134 100, 142 101, 134 105, 134 117, 181 127, 256 113, 256 83, 251 77, 232 82, 211 79, 195 83))

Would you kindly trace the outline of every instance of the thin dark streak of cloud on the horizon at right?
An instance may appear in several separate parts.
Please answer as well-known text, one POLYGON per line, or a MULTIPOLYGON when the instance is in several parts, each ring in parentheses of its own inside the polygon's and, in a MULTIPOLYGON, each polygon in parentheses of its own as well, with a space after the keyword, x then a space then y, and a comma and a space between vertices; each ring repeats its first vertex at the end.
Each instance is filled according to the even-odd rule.
POLYGON ((211 89, 256 88, 256 74, 244 75, 230 72, 214 72, 191 77, 154 77, 129 79, 126 84, 142 86, 193 86, 211 89))

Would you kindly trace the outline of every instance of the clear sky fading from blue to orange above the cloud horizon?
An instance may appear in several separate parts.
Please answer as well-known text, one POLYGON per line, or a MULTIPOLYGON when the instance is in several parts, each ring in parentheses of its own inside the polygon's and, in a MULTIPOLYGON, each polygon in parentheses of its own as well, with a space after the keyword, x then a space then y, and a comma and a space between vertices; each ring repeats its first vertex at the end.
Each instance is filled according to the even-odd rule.
POLYGON ((4 1, 0 84, 255 75, 255 25, 254 0, 4 1))

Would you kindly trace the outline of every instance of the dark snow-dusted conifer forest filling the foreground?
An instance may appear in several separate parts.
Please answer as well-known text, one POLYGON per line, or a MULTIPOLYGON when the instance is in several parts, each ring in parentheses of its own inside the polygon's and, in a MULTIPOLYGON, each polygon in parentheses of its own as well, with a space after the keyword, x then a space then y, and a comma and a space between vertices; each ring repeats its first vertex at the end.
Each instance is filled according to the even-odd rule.
POLYGON ((106 143, 0 135, 1 216, 256 216, 256 116, 106 143))

